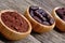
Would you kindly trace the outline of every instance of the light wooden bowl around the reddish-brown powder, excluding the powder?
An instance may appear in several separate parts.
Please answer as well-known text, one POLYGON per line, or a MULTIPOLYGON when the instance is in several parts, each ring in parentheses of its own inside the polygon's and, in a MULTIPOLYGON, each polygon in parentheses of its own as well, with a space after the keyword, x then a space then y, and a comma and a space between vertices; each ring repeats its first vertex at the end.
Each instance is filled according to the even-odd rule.
MULTIPOLYGON (((10 29, 8 26, 4 25, 4 23, 1 19, 1 14, 4 12, 16 12, 14 10, 3 10, 0 11, 0 32, 8 39, 8 40, 21 40, 26 38, 28 34, 30 34, 31 32, 31 25, 30 23, 27 20, 26 17, 24 17, 22 14, 20 14, 27 23, 28 23, 28 31, 26 32, 17 32, 15 30, 10 29)), ((17 12, 16 12, 17 13, 17 12)))

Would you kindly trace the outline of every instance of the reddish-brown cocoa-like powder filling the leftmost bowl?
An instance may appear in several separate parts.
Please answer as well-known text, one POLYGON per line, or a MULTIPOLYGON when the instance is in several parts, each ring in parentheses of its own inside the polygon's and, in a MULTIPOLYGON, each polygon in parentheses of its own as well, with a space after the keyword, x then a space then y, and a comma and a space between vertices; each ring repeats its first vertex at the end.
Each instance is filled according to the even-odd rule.
POLYGON ((27 22, 16 12, 4 12, 1 15, 2 22, 11 29, 18 32, 26 32, 28 30, 27 22))

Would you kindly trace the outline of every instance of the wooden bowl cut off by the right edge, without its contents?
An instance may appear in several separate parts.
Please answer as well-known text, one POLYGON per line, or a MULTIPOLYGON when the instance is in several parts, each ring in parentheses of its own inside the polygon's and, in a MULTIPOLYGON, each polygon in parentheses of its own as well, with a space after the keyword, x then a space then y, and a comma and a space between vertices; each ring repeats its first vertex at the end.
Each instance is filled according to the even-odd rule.
POLYGON ((52 11, 52 16, 54 17, 55 19, 55 23, 56 23, 56 27, 61 30, 61 31, 65 31, 65 22, 63 19, 61 19, 57 14, 56 14, 56 10, 57 9, 61 9, 62 6, 58 6, 58 8, 55 8, 53 11, 52 11))

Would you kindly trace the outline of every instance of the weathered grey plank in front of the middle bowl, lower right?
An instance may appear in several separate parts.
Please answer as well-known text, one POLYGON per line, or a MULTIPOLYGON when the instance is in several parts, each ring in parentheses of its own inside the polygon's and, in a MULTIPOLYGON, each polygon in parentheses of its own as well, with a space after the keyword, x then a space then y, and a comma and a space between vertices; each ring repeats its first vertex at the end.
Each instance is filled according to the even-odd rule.
POLYGON ((52 30, 42 34, 32 33, 42 43, 65 43, 65 35, 52 30))

